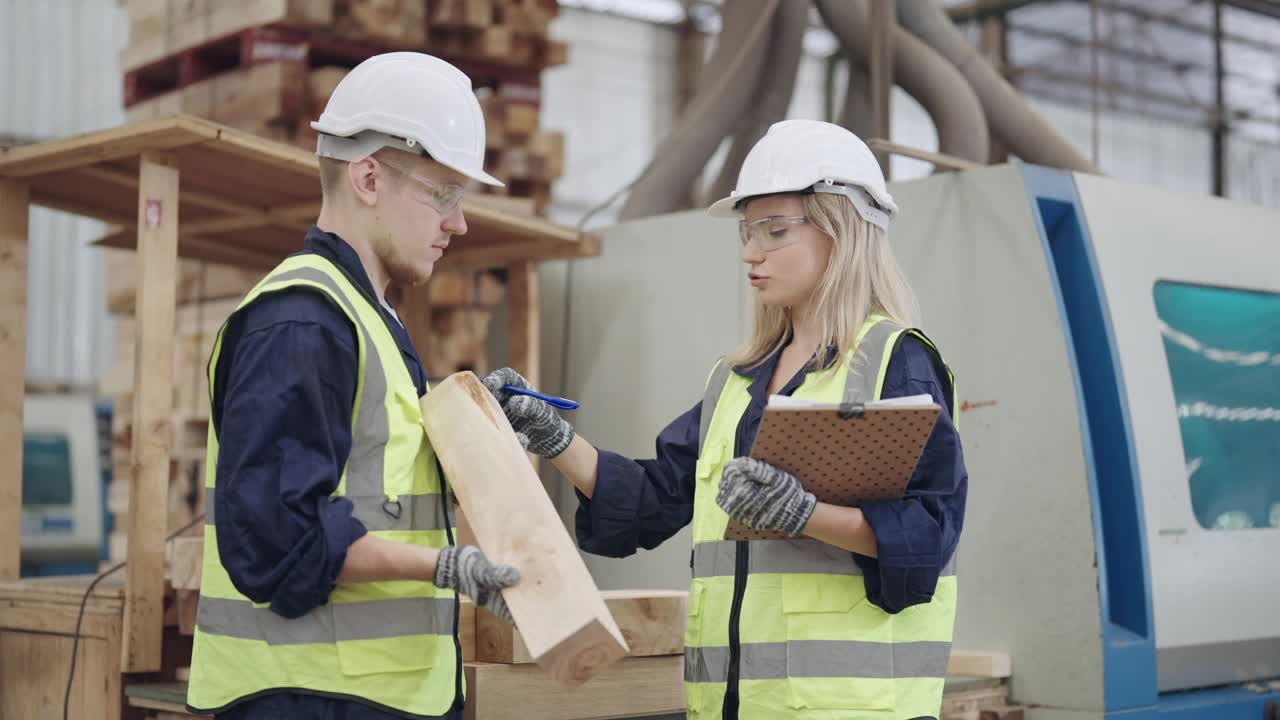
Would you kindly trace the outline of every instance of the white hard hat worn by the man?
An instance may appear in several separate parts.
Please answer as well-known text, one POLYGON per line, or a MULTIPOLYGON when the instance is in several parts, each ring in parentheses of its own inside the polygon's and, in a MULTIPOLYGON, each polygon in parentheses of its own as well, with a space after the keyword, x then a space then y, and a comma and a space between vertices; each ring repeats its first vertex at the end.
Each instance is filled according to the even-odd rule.
POLYGON ((431 55, 387 53, 360 63, 311 127, 320 133, 321 158, 355 161, 396 147, 502 186, 484 172, 484 113, 471 79, 431 55))

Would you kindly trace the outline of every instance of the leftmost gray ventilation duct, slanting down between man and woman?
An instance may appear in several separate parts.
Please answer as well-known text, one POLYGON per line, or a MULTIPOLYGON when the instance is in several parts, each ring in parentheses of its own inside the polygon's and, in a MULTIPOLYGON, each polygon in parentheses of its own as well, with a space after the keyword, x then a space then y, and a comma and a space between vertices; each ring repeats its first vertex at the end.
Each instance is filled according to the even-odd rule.
POLYGON ((631 188, 620 219, 684 209, 689 186, 751 108, 769 50, 769 26, 781 3, 724 3, 723 28, 703 70, 701 87, 631 188))

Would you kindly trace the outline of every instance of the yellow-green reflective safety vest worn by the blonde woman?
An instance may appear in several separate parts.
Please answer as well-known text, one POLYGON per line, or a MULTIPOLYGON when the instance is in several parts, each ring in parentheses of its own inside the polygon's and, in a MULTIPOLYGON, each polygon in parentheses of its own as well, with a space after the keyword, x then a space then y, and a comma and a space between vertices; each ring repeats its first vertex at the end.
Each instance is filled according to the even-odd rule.
MULTIPOLYGON (((937 352, 919 331, 873 316, 845 361, 809 373, 795 397, 879 398, 902 333, 937 352)), ((689 716, 722 717, 726 694, 736 687, 741 720, 937 717, 955 623, 950 561, 931 602, 891 615, 867 600, 849 551, 810 538, 723 539, 728 515, 716 495, 751 400, 750 383, 719 363, 701 406, 685 632, 689 716)))

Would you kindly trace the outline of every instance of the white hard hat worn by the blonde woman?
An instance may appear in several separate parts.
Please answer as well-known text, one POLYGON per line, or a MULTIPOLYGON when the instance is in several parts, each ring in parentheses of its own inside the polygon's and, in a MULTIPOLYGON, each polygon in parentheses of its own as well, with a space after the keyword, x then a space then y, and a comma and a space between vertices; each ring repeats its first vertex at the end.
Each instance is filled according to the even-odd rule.
POLYGON ((780 192, 845 195, 868 223, 883 229, 897 214, 884 173, 867 143, 819 120, 782 120, 769 127, 742 160, 737 187, 708 213, 732 218, 741 214, 745 200, 780 192))

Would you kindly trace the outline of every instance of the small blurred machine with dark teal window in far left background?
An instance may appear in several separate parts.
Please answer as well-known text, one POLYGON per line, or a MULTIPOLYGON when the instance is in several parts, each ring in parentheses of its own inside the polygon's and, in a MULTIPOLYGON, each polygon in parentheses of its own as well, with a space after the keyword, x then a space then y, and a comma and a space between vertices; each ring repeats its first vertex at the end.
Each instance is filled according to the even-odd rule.
POLYGON ((104 557, 110 410, 87 395, 23 401, 22 573, 96 573, 104 557))

